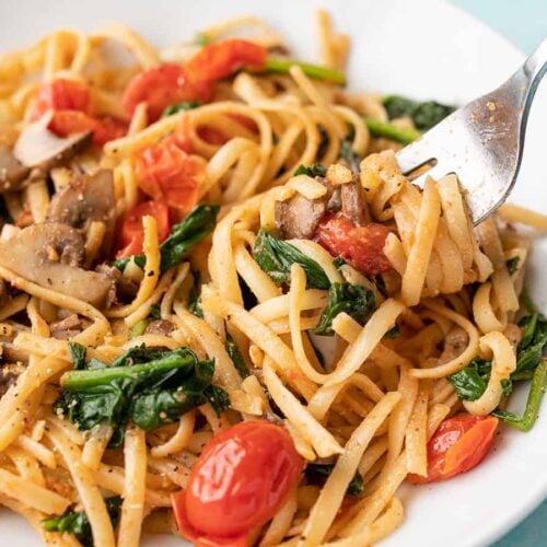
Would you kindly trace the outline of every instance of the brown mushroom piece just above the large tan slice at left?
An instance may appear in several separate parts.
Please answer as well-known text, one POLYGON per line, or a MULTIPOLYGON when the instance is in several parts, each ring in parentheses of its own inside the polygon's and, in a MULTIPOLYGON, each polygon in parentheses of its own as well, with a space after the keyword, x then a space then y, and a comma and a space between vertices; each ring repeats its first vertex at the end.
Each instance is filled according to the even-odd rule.
POLYGON ((103 222, 106 231, 102 251, 110 252, 116 225, 114 178, 110 170, 100 170, 93 175, 79 175, 58 191, 47 211, 47 219, 62 222, 88 233, 92 222, 103 222))

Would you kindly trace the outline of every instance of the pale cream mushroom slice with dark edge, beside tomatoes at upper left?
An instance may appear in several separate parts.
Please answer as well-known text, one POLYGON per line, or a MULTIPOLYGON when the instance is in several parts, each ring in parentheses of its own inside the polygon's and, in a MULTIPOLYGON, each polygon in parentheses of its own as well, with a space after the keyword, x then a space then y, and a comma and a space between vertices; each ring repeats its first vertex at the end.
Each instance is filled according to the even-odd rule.
POLYGON ((92 142, 91 131, 57 137, 47 128, 51 116, 53 112, 49 110, 37 121, 26 126, 15 142, 13 153, 26 167, 47 172, 70 160, 92 142))

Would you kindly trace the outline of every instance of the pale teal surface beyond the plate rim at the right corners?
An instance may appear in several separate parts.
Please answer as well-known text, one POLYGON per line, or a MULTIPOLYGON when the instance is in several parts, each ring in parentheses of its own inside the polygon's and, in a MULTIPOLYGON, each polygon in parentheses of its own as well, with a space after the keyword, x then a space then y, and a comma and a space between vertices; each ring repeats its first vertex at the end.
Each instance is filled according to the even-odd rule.
MULTIPOLYGON (((452 3, 473 13, 525 54, 547 37, 547 0, 453 0, 452 3)), ((492 547, 543 545, 547 545, 547 501, 492 547)))

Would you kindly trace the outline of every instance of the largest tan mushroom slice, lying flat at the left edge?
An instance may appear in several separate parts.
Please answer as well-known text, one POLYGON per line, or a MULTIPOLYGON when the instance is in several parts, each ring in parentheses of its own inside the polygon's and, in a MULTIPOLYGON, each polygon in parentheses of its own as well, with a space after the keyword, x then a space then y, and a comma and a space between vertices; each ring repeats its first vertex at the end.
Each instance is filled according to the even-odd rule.
POLYGON ((101 307, 113 281, 104 274, 79 268, 83 253, 83 238, 77 230, 46 222, 0 242, 0 266, 40 287, 101 307))

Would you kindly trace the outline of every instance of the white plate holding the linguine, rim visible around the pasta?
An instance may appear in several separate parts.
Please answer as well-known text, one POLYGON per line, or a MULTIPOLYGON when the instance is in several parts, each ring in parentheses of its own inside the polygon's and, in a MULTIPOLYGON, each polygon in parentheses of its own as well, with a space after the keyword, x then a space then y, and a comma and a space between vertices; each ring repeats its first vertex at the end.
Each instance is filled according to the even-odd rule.
MULTIPOLYGON (((59 26, 93 30, 113 21, 133 26, 155 44, 168 45, 225 16, 252 13, 283 32, 301 58, 313 60, 317 54, 316 5, 329 9, 337 27, 351 36, 353 89, 463 102, 499 85, 523 59, 490 28, 432 0, 2 0, 0 50, 32 43, 59 26)), ((547 119, 546 88, 544 84, 538 92, 525 164, 511 198, 544 212, 545 139, 539 120, 547 119)), ((540 277, 546 267, 544 241, 534 247, 529 272, 532 292, 544 311, 547 288, 540 277)), ((523 400, 524 394, 520 395, 516 403, 523 400)), ((546 433, 547 404, 532 432, 504 430, 492 454, 476 470, 444 484, 404 490, 406 522, 384 545, 470 547, 499 538, 547 494, 546 433)), ((21 519, 0 510, 0 547, 11 547, 15 539, 27 547, 39 545, 21 519)), ((181 546, 182 540, 154 536, 144 545, 181 546)))

